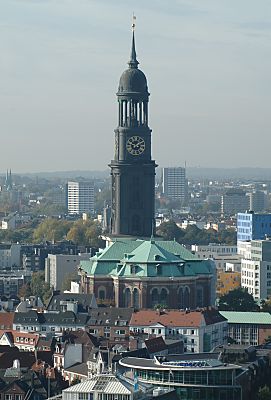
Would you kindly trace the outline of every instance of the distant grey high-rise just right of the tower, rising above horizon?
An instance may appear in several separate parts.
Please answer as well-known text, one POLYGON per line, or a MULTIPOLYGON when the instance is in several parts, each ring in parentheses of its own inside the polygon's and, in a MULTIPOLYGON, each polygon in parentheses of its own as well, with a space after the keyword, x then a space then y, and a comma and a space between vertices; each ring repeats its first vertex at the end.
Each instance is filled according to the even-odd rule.
POLYGON ((182 204, 187 201, 187 180, 185 168, 163 168, 163 194, 170 200, 179 200, 182 204))

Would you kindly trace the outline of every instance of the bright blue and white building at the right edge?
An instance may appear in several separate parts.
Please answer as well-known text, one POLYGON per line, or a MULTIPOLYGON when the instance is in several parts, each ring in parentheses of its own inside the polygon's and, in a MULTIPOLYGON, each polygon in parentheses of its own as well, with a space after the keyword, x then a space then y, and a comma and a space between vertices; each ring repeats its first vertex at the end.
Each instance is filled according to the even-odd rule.
POLYGON ((271 214, 237 214, 237 241, 266 239, 271 236, 271 214))

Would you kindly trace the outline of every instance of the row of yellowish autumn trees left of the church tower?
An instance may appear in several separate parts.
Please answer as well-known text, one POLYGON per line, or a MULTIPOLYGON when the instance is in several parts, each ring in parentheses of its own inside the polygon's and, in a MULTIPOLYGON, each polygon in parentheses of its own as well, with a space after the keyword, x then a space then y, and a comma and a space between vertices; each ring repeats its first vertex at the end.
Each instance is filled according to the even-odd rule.
POLYGON ((34 222, 15 230, 1 230, 0 241, 42 243, 67 239, 75 244, 99 248, 103 246, 103 241, 99 238, 101 233, 100 224, 92 219, 72 222, 47 218, 39 224, 34 222))

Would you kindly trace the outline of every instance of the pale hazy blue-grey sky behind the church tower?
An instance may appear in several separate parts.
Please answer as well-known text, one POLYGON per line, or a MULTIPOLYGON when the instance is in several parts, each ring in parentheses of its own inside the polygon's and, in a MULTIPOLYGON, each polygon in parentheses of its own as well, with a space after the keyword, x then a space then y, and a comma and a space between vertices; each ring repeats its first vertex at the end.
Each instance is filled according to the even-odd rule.
POLYGON ((0 0, 0 172, 108 168, 133 12, 157 164, 271 167, 270 0, 0 0))

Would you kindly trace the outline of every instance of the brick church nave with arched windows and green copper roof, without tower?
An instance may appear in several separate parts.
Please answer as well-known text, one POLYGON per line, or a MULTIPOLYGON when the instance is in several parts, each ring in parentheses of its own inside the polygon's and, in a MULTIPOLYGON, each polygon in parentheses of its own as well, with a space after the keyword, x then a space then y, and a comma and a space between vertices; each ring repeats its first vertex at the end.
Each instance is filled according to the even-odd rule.
POLYGON ((84 293, 116 307, 207 307, 215 303, 216 271, 176 241, 115 239, 80 263, 84 293))

